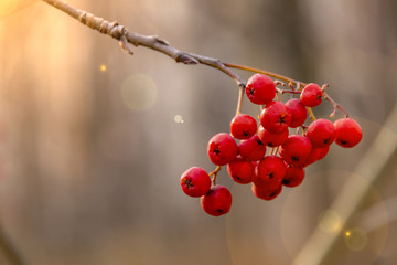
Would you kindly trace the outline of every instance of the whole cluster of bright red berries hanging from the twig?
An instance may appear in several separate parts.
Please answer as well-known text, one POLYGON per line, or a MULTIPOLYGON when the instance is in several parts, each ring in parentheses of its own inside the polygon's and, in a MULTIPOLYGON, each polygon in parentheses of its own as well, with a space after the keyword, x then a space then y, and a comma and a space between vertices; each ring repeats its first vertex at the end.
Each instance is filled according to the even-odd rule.
MULTIPOLYGON (((346 114, 334 123, 315 119, 311 108, 326 98, 326 86, 321 88, 311 83, 303 89, 291 86, 292 91, 282 91, 277 87, 278 84, 280 82, 273 82, 267 75, 253 75, 245 93, 251 103, 262 105, 259 126, 256 118, 240 114, 238 109, 230 123, 230 134, 219 132, 208 141, 207 153, 216 169, 207 173, 193 167, 182 173, 182 190, 187 195, 201 198, 201 206, 206 213, 219 216, 227 213, 232 205, 230 191, 215 182, 222 166, 227 166, 227 172, 235 182, 251 183, 251 191, 257 198, 272 200, 280 194, 283 186, 299 186, 304 178, 304 168, 323 159, 332 142, 350 148, 361 141, 360 125, 346 114), (297 94, 299 99, 282 103, 279 93, 297 94), (308 112, 312 123, 304 126, 308 112), (290 128, 297 128, 297 132, 290 134, 290 128)), ((335 110, 341 108, 329 97, 326 99, 335 110)))

